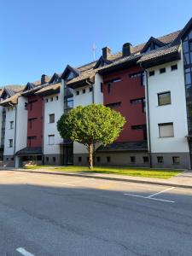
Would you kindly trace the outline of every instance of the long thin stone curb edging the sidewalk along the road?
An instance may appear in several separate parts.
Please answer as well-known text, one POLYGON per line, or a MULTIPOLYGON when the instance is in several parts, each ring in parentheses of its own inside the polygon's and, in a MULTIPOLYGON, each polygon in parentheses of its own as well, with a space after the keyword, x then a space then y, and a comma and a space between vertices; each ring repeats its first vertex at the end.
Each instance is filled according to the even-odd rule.
POLYGON ((104 179, 104 180, 112 180, 112 181, 120 181, 120 182, 127 182, 127 183, 144 183, 144 184, 154 184, 160 186, 167 186, 167 187, 176 187, 182 189, 192 189, 192 185, 182 185, 177 183, 160 183, 160 182, 152 182, 147 180, 137 180, 131 178, 122 178, 122 177, 103 177, 103 176, 91 176, 89 174, 77 174, 77 173, 70 173, 70 172, 41 172, 41 171, 29 171, 29 170, 16 170, 16 169, 9 169, 5 171, 15 171, 15 172, 29 172, 29 173, 40 173, 40 174, 51 174, 51 175, 63 175, 63 176, 73 176, 73 177, 89 177, 89 178, 96 178, 96 179, 104 179))

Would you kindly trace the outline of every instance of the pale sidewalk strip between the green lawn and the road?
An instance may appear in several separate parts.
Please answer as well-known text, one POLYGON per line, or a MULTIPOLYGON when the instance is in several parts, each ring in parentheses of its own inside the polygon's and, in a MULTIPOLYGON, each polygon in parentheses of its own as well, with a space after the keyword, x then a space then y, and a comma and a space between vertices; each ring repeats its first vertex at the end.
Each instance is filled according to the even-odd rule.
POLYGON ((177 188, 192 189, 192 170, 182 172, 175 177, 167 179, 152 178, 152 177, 133 177, 125 175, 115 175, 115 174, 102 174, 102 173, 87 173, 87 172, 55 172, 51 169, 15 169, 15 168, 1 168, 0 170, 5 171, 16 171, 16 172, 32 172, 32 173, 43 173, 52 175, 64 175, 64 176, 74 176, 74 177, 90 177, 98 179, 107 179, 113 181, 122 181, 128 183, 147 183, 162 186, 172 186, 177 188))

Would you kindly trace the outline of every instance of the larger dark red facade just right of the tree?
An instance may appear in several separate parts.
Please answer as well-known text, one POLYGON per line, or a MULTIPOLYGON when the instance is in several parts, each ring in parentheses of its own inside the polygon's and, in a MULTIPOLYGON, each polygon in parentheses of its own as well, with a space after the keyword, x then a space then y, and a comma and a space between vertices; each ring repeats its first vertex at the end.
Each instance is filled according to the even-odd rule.
POLYGON ((142 73, 141 67, 130 67, 103 75, 104 105, 118 110, 126 119, 124 130, 117 142, 146 139, 145 89, 142 73))

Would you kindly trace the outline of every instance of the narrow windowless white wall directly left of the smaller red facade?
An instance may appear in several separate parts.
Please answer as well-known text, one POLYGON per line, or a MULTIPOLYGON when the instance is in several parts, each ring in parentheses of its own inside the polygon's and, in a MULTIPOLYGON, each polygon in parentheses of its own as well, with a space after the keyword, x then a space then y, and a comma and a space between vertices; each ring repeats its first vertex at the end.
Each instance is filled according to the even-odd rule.
POLYGON ((25 103, 28 102, 26 97, 20 96, 17 104, 17 119, 16 119, 16 141, 15 152, 22 148, 26 148, 27 137, 27 110, 25 109, 25 103))

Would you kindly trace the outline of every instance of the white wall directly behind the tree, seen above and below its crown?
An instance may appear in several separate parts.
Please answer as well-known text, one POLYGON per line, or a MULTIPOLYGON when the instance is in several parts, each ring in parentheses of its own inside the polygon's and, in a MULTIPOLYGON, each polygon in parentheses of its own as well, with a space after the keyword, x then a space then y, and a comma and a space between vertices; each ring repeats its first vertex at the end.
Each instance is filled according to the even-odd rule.
MULTIPOLYGON (((73 96, 73 107, 77 107, 79 105, 81 106, 87 106, 92 103, 96 104, 102 104, 103 103, 103 94, 101 92, 101 83, 102 83, 102 77, 96 73, 95 76, 95 84, 93 84, 93 91, 89 90, 89 85, 85 85, 84 87, 81 87, 77 90, 79 90, 79 95, 76 94, 77 90, 74 90, 74 96, 73 96), (86 92, 83 94, 83 90, 86 90, 86 92), (94 97, 93 97, 94 94, 94 97), (94 98, 94 102, 93 102, 94 98)), ((80 144, 80 143, 73 143, 73 154, 87 154, 87 148, 80 144)))

